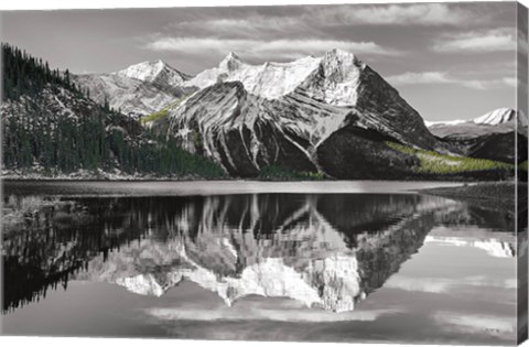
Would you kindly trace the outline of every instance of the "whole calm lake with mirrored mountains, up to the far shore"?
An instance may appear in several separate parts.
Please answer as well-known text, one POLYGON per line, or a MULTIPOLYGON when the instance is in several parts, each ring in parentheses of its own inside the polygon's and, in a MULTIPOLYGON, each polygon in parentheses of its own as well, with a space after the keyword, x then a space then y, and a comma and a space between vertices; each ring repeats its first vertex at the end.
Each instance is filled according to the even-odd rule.
POLYGON ((4 182, 2 334, 514 344, 514 217, 453 184, 4 182))

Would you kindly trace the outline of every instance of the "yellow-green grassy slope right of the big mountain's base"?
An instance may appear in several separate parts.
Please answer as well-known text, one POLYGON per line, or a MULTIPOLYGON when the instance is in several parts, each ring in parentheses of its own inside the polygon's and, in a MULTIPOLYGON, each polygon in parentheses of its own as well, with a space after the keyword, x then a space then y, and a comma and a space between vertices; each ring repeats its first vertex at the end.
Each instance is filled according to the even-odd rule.
POLYGON ((420 173, 453 174, 473 171, 512 170, 515 167, 512 164, 504 162, 441 154, 434 151, 413 149, 389 141, 387 141, 386 144, 401 153, 417 156, 420 161, 418 170, 420 173))

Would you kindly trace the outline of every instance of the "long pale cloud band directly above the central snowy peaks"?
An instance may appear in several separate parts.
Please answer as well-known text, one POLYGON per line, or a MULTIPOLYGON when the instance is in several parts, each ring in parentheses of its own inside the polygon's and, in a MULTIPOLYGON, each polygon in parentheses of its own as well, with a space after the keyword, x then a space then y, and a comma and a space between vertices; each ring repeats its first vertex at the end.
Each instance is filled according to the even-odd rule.
POLYGON ((339 40, 251 40, 215 37, 160 37, 145 45, 152 51, 169 51, 188 55, 237 52, 247 58, 262 59, 274 57, 292 59, 306 55, 320 55, 332 48, 355 54, 400 55, 401 52, 385 48, 374 42, 354 42, 339 40))

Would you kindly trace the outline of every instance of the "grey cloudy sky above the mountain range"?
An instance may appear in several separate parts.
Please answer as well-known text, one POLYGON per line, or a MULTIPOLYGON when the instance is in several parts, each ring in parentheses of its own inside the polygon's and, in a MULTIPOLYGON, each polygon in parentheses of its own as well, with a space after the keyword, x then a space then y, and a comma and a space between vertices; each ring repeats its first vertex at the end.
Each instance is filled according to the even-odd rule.
POLYGON ((73 73, 160 58, 196 74, 229 52, 262 64, 342 48, 435 121, 516 108, 516 15, 515 2, 6 11, 1 37, 73 73))

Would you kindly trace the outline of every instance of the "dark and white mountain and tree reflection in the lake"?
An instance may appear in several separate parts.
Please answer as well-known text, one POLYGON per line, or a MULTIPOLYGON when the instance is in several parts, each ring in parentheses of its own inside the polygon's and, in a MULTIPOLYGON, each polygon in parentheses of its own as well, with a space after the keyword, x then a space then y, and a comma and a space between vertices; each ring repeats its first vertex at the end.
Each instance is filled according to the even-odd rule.
MULTIPOLYGON (((7 196, 6 212, 4 312, 71 280, 156 296, 187 280, 227 305, 257 294, 353 311, 434 226, 514 229, 505 216, 423 195, 7 196)), ((515 256, 512 243, 496 246, 515 256)))

